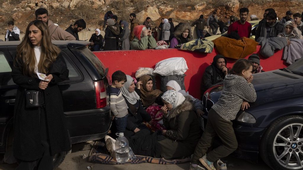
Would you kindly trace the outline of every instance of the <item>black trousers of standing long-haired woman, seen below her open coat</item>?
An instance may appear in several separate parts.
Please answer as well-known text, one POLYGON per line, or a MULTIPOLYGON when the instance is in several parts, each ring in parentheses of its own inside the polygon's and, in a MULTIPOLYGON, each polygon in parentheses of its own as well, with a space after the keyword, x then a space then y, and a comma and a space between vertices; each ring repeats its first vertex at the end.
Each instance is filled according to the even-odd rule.
POLYGON ((41 145, 44 148, 44 154, 42 158, 35 161, 21 161, 19 166, 15 170, 34 170, 37 167, 37 170, 52 170, 53 169, 53 156, 50 152, 49 137, 48 137, 48 128, 46 121, 46 113, 44 108, 39 108, 40 111, 40 136, 41 136, 41 145))

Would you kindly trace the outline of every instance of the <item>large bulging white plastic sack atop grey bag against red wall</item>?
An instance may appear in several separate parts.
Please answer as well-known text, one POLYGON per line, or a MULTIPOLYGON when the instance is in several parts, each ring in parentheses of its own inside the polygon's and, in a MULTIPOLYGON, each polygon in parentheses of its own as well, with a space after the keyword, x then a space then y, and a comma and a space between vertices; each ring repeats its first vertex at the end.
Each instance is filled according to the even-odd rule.
POLYGON ((180 76, 187 70, 188 67, 183 57, 173 57, 159 61, 153 73, 160 74, 161 76, 180 76))

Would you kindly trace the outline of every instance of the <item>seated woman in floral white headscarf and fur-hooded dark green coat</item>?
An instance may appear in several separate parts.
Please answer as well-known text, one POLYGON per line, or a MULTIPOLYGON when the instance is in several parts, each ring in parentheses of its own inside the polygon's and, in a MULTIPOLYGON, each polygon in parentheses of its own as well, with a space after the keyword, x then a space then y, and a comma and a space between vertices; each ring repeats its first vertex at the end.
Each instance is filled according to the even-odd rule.
POLYGON ((162 130, 166 139, 158 141, 161 156, 165 159, 187 157, 194 153, 200 136, 198 118, 193 111, 193 101, 181 93, 168 90, 162 95, 164 106, 162 130))

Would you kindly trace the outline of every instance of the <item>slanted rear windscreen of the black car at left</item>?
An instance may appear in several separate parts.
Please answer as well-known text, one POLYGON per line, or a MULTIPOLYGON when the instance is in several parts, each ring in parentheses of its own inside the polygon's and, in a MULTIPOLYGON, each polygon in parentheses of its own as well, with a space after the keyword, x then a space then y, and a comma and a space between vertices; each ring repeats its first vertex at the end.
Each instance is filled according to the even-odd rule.
POLYGON ((80 51, 92 63, 92 65, 94 65, 96 70, 98 70, 98 73, 104 76, 106 68, 103 63, 98 59, 98 57, 96 57, 95 54, 92 53, 92 51, 90 51, 88 48, 83 48, 80 51))

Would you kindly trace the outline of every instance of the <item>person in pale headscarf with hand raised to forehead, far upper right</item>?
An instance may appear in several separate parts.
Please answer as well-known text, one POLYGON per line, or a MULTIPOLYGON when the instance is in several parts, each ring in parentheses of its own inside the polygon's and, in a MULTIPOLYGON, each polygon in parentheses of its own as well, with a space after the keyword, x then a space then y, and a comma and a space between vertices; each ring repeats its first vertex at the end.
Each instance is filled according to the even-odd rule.
POLYGON ((302 32, 297 28, 294 21, 287 21, 284 24, 284 32, 278 34, 278 37, 303 39, 302 32))

